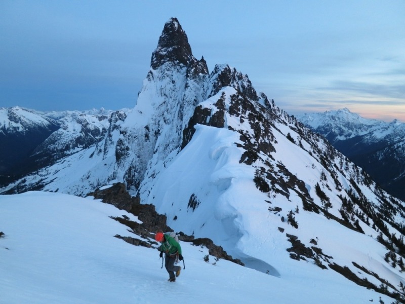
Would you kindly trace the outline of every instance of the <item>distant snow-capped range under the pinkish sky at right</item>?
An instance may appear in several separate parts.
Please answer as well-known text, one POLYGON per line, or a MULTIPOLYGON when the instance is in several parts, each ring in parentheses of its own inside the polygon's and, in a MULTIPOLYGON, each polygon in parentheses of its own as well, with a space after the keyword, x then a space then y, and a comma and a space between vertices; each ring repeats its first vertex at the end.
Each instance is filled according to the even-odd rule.
POLYGON ((365 119, 347 108, 298 117, 325 136, 387 192, 405 200, 405 124, 365 119))

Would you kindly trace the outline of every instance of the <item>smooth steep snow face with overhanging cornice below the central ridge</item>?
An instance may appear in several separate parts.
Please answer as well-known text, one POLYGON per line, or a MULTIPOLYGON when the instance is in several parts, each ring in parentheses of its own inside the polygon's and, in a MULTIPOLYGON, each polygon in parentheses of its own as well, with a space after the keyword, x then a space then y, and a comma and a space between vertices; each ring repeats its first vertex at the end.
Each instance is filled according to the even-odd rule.
POLYGON ((166 213, 168 218, 177 216, 181 219, 179 225, 184 225, 185 220, 187 229, 196 236, 207 235, 206 229, 211 230, 214 226, 214 242, 235 243, 241 236, 235 235, 237 214, 241 211, 236 212, 228 203, 227 194, 240 175, 246 174, 240 167, 247 167, 239 164, 242 151, 236 142, 239 142, 238 135, 232 131, 198 126, 193 140, 155 177, 145 203, 153 203, 156 211, 166 213), (192 195, 201 201, 194 211, 182 207, 192 195), (200 210, 203 210, 202 214, 200 210))

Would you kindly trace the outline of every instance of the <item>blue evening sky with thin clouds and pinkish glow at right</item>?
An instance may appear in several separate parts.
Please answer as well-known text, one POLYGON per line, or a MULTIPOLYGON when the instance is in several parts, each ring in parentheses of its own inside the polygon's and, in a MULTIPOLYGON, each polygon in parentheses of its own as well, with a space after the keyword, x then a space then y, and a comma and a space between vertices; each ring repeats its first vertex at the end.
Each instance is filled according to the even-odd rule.
POLYGON ((405 1, 0 2, 0 107, 133 107, 166 21, 290 114, 405 122, 405 1))

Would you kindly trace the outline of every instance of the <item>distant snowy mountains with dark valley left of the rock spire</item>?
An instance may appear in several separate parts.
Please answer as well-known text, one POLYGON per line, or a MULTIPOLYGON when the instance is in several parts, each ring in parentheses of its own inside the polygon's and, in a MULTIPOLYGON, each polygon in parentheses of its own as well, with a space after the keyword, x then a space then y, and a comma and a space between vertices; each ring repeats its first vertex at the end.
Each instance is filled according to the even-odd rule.
POLYGON ((0 108, 0 183, 8 184, 94 145, 107 132, 110 113, 0 108))

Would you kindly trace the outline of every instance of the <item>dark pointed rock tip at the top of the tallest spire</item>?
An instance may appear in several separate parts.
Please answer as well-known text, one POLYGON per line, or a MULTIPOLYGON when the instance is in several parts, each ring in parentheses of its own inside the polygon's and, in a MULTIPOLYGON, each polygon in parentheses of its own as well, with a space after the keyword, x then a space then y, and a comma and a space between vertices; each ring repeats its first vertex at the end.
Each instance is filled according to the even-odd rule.
POLYGON ((161 32, 156 50, 152 53, 150 66, 156 69, 168 61, 177 61, 187 66, 191 58, 193 56, 186 32, 177 18, 170 18, 161 32))

